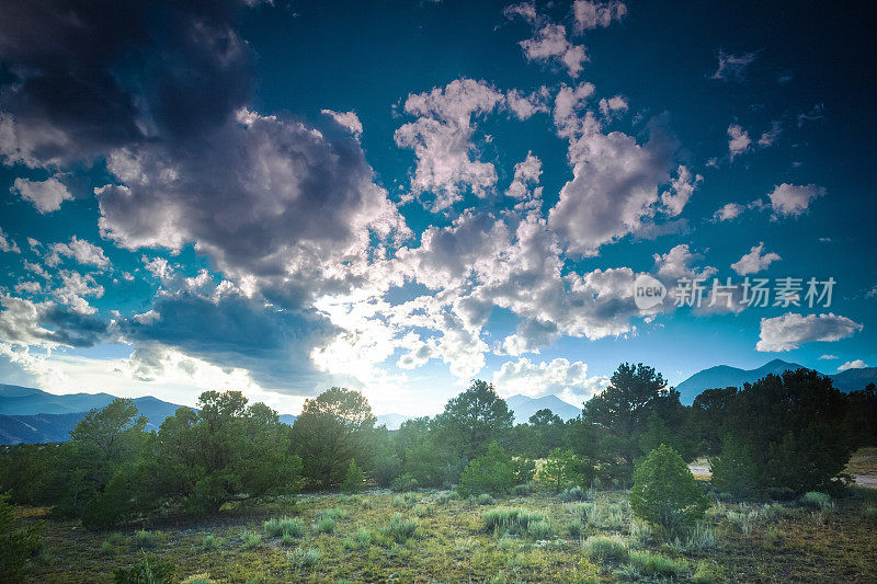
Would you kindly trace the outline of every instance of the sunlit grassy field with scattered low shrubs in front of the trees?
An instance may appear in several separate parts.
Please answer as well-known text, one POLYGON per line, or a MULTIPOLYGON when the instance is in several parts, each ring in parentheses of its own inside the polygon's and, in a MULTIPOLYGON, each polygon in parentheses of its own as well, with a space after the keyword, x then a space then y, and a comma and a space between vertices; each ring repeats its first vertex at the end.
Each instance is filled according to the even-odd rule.
POLYGON ((695 534, 670 539, 631 520, 625 491, 573 502, 544 491, 304 494, 118 533, 48 520, 29 576, 112 582, 152 554, 187 582, 874 582, 875 507, 877 491, 861 488, 824 508, 714 502, 695 534))

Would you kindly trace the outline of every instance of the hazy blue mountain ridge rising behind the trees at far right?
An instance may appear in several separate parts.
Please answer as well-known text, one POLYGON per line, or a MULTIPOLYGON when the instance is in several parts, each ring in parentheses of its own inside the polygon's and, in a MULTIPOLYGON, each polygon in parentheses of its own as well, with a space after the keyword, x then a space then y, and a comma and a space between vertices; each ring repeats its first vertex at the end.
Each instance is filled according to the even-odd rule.
MULTIPOLYGON (((713 388, 743 387, 752 383, 768 374, 782 374, 786 370, 802 368, 804 365, 789 363, 783 359, 773 359, 756 369, 741 369, 728 365, 717 365, 698 371, 676 386, 680 401, 691 405, 702 391, 713 388)), ((847 369, 839 374, 829 375, 835 388, 846 393, 865 389, 868 383, 877 383, 877 367, 862 369, 847 369)))

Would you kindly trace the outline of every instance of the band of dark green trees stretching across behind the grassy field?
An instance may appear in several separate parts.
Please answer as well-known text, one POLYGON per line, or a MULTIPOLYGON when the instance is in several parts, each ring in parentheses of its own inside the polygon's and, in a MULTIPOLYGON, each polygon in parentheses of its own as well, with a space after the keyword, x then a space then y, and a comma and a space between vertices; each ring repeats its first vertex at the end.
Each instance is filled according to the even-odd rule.
POLYGON ((851 454, 877 445, 877 392, 870 385, 845 394, 830 378, 798 369, 710 389, 684 406, 653 368, 625 363, 569 422, 540 410, 515 425, 493 386, 475 380, 438 415, 398 431, 375 424, 365 397, 344 388, 307 400, 293 426, 240 392, 206 391, 196 410, 181 408, 148 432, 133 402, 117 399, 89 412, 67 443, 9 448, 0 456, 0 493, 109 528, 301 489, 502 494, 534 477, 558 492, 627 488, 663 447, 685 461, 708 457, 719 492, 794 496, 848 481, 851 454), (538 474, 536 459, 544 459, 538 474))

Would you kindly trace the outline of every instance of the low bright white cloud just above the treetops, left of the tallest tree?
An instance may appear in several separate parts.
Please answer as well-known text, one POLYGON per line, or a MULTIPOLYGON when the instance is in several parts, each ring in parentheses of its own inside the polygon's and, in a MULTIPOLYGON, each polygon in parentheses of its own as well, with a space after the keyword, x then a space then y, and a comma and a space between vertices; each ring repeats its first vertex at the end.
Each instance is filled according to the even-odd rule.
POLYGON ((517 393, 531 398, 554 393, 566 401, 581 403, 608 385, 603 377, 588 377, 588 365, 556 358, 550 363, 533 363, 526 357, 506 362, 493 373, 493 385, 500 396, 517 393))

